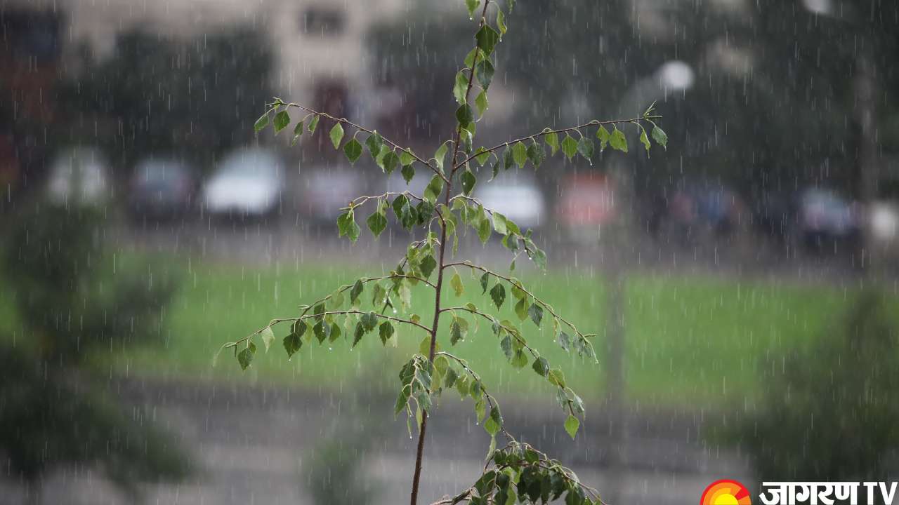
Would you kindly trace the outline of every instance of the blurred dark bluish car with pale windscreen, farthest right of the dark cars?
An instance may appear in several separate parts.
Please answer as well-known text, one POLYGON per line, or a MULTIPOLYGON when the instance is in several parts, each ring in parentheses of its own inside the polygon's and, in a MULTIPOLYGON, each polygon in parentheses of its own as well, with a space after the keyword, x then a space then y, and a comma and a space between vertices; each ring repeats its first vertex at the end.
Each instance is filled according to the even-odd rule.
POLYGON ((835 191, 804 190, 798 198, 799 236, 807 250, 851 243, 859 237, 859 209, 835 191))

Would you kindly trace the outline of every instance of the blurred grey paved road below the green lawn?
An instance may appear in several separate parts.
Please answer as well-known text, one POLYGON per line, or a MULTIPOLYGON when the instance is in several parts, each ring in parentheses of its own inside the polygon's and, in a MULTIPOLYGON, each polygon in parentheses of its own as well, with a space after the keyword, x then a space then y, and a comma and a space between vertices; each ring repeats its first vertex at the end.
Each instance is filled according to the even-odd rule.
MULTIPOLYGON (((405 421, 392 421, 390 412, 379 412, 377 400, 362 398, 351 408, 329 395, 245 385, 129 381, 111 387, 180 433, 180 443, 191 448, 204 468, 193 483, 147 486, 147 503, 314 505, 307 487, 314 447, 335 432, 352 439, 353 430, 377 434, 372 440, 375 450, 358 453, 364 467, 360 480, 378 490, 375 503, 408 500, 414 441, 408 438, 405 421), (334 414, 342 409, 354 421, 335 430, 334 414), (350 431, 345 431, 347 426, 350 431)), ((458 409, 456 400, 451 402, 441 405, 429 426, 423 474, 427 500, 464 489, 483 465, 484 430, 475 425, 468 408, 458 409)), ((701 414, 632 411, 627 416, 626 469, 614 474, 606 465, 608 420, 600 409, 593 410, 577 446, 567 439, 561 420, 539 405, 510 405, 503 414, 520 439, 551 447, 553 456, 570 463, 584 482, 601 492, 619 485, 620 503, 695 502, 708 483, 748 473, 740 457, 702 441, 701 414)), ((341 485, 339 475, 332 478, 334 485, 341 485)), ((26 502, 21 490, 9 485, 0 485, 0 492, 4 503, 26 502)), ((102 478, 83 470, 54 474, 43 486, 45 504, 126 502, 102 478)))

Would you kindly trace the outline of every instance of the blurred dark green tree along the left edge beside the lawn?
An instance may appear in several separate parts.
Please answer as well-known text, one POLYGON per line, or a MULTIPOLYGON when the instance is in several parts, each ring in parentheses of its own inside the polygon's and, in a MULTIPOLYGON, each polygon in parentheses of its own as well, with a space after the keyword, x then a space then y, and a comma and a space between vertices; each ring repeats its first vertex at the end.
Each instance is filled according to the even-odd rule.
POLYGON ((158 338, 176 275, 111 261, 101 212, 41 206, 5 240, 22 334, 0 337, 0 453, 33 502, 34 484, 61 465, 97 465, 132 495, 138 480, 189 472, 182 449, 116 405, 85 365, 92 351, 158 338))

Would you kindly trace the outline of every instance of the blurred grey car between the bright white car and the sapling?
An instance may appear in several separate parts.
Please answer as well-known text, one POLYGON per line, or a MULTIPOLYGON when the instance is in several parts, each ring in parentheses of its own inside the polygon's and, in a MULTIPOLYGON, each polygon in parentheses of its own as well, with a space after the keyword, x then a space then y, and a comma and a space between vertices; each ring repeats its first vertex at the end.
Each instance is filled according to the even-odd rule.
POLYGON ((305 170, 298 182, 299 211, 313 223, 333 225, 340 209, 363 195, 360 172, 359 168, 327 165, 305 170))

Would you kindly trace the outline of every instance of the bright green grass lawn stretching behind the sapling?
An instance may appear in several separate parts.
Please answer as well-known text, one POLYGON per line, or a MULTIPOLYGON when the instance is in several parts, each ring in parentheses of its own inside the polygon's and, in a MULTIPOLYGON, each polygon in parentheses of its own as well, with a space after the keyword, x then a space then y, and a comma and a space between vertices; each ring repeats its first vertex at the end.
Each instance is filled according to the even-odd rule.
MULTIPOLYGON (((273 317, 296 315, 297 306, 352 283, 363 271, 378 274, 379 267, 311 264, 257 268, 239 264, 193 262, 186 267, 180 294, 167 310, 162 346, 115 352, 102 358, 104 366, 120 372, 155 376, 219 378, 242 383, 280 383, 314 390, 339 391, 353 380, 378 377, 391 389, 396 372, 424 333, 402 327, 387 347, 370 333, 355 349, 349 342, 305 345, 286 359, 280 338, 287 324, 276 331, 279 340, 253 366, 241 372, 233 355, 225 352, 212 367, 212 356, 223 342, 234 341, 265 325, 273 317)), ((447 287, 444 300, 453 305, 471 301, 488 306, 475 278, 459 270, 466 293, 455 297, 447 287)), ((547 274, 524 272, 525 286, 560 315, 570 316, 583 332, 596 332, 594 345, 602 361, 604 341, 604 288, 601 278, 583 270, 565 269, 547 274)), ((370 286, 370 285, 369 285, 370 286)), ((694 403, 723 406, 743 403, 760 387, 765 368, 776 366, 779 351, 814 341, 840 323, 851 299, 841 288, 793 286, 712 277, 632 274, 628 279, 626 373, 631 401, 656 404, 694 403)), ((366 294, 370 297, 367 288, 366 294)), ((430 323, 426 300, 430 288, 414 291, 414 312, 430 323)), ((515 315, 508 300, 503 315, 515 315)), ((470 318, 469 318, 470 319, 470 318)), ((446 320, 444 320, 446 321, 446 320)), ((501 394, 551 401, 551 388, 530 368, 515 370, 504 362, 499 343, 484 321, 469 333, 455 353, 482 371, 485 384, 501 394)), ((529 343, 565 376, 584 399, 603 394, 604 369, 568 356, 546 331, 522 323, 529 343)), ((449 347, 449 324, 441 342, 449 347)), ((261 346, 261 342, 259 344, 261 346)))

